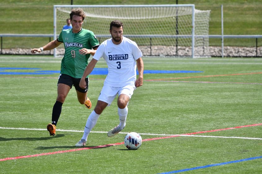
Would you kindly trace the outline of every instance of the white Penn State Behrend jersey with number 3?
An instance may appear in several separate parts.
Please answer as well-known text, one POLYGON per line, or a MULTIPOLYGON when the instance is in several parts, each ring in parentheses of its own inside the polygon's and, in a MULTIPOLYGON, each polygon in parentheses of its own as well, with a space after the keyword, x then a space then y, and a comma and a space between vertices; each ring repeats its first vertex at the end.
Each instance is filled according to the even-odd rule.
POLYGON ((108 74, 104 85, 112 87, 135 87, 136 61, 142 57, 142 52, 137 44, 124 37, 119 45, 113 44, 112 38, 105 40, 96 50, 94 59, 103 57, 108 66, 108 74))

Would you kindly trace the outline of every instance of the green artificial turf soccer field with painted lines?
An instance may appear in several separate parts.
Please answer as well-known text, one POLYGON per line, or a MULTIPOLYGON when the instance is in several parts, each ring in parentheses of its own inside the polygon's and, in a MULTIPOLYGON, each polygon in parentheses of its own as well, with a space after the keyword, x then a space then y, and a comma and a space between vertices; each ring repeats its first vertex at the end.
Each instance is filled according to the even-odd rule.
MULTIPOLYGON (((89 135, 85 147, 90 148, 79 150, 74 145, 93 109, 79 104, 72 88, 63 104, 59 130, 50 137, 46 126, 51 122, 59 73, 23 74, 59 71, 61 57, 0 56, 1 173, 162 173, 189 168, 195 169, 187 173, 262 172, 260 58, 143 60, 145 71, 202 72, 144 74, 144 85, 134 91, 129 102, 127 125, 121 134, 106 135, 118 124, 114 100, 89 135), (18 72, 22 74, 14 74, 18 72), (238 127, 245 125, 249 126, 238 127), (232 127, 235 129, 226 129, 232 127), (147 140, 138 150, 127 150, 123 144, 110 146, 123 142, 125 134, 133 131, 147 140), (169 137, 176 134, 191 136, 169 137), (167 138, 153 139, 161 137, 167 138), (20 156, 28 158, 12 159, 20 156), (242 159, 249 160, 238 161, 242 159)), ((105 67, 103 60, 96 66, 105 67)), ((104 78, 90 76, 92 107, 104 78)))

